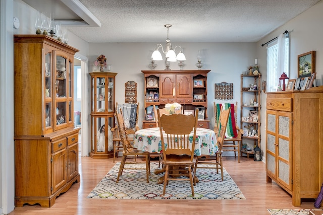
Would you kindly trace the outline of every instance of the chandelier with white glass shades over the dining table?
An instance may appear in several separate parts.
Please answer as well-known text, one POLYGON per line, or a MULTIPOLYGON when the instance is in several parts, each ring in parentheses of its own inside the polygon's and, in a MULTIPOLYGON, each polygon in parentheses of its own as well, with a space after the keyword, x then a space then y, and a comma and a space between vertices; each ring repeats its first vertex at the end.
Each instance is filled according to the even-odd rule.
POLYGON ((177 45, 175 46, 175 48, 172 48, 172 43, 171 40, 168 38, 168 32, 169 32, 169 28, 172 27, 172 25, 170 24, 166 24, 164 25, 167 28, 167 39, 166 39, 166 50, 164 51, 163 45, 161 44, 157 44, 156 45, 156 49, 152 52, 151 58, 152 60, 163 60, 163 57, 161 56, 160 52, 159 52, 159 48, 161 47, 161 50, 163 51, 164 54, 166 54, 166 65, 169 65, 169 62, 176 62, 177 60, 186 60, 185 55, 182 52, 182 47, 177 45), (179 47, 180 48, 180 52, 177 54, 175 54, 175 49, 179 47))

